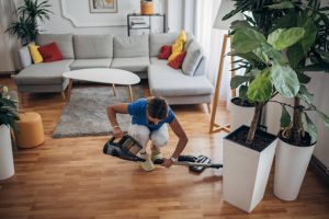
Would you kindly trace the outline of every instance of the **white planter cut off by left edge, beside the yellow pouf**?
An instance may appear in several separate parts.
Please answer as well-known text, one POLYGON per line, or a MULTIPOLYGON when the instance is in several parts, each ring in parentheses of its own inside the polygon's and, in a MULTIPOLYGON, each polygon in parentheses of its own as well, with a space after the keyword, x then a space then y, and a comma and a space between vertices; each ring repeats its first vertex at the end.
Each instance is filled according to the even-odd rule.
POLYGON ((0 181, 7 180, 14 174, 14 163, 10 138, 10 128, 0 126, 0 181))

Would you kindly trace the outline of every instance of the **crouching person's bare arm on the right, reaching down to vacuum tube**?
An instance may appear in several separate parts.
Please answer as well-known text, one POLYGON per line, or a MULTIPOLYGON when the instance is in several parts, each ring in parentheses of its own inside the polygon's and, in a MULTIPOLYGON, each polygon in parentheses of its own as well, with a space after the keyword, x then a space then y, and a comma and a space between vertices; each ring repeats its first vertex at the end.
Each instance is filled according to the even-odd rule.
MULTIPOLYGON (((189 139, 188 136, 184 131, 184 129, 182 128, 181 124, 179 123, 179 120, 177 118, 174 118, 169 126, 171 127, 171 129, 173 130, 173 132, 177 135, 177 137, 179 138, 179 141, 177 143, 177 147, 172 153, 172 158, 178 158, 181 152, 184 150, 189 139)), ((172 165, 172 161, 170 159, 163 159, 163 165, 166 168, 170 168, 172 165)))

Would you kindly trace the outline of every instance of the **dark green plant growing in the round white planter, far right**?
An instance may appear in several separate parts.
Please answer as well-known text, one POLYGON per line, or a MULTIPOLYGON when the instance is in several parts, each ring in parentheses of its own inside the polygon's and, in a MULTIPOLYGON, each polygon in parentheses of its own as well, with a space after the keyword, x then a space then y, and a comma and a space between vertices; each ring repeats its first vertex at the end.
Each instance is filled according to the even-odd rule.
POLYGON ((292 25, 303 26, 306 35, 298 44, 287 49, 287 57, 292 67, 296 70, 300 90, 294 97, 294 114, 290 114, 283 105, 281 126, 285 129, 286 140, 293 145, 303 145, 304 130, 311 137, 313 143, 317 139, 317 129, 308 113, 314 111, 319 118, 329 127, 329 117, 317 110, 313 104, 313 94, 307 90, 307 83, 316 71, 329 72, 329 19, 328 7, 320 7, 319 0, 310 0, 307 4, 295 8, 288 14, 276 22, 277 27, 290 27, 292 25), (306 71, 310 78, 305 74, 306 71), (304 102, 304 103, 303 103, 304 102), (303 116, 305 124, 303 124, 303 116))

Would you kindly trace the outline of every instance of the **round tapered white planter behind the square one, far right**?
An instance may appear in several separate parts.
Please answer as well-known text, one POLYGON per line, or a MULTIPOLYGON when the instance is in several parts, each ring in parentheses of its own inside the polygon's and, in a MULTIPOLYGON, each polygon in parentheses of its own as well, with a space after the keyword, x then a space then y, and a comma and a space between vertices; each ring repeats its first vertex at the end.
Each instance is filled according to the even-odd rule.
POLYGON ((274 195, 283 200, 298 196, 315 145, 298 147, 279 139, 275 152, 274 195))

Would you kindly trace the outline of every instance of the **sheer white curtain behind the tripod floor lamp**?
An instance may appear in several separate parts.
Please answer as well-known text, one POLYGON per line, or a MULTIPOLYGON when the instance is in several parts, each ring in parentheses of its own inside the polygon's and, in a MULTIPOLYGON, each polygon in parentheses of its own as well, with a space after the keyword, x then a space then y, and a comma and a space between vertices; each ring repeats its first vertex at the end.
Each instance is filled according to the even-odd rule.
MULTIPOLYGON (((220 0, 196 0, 196 38, 204 49, 207 57, 206 73, 208 79, 215 85, 219 57, 222 51, 223 36, 227 31, 213 28, 214 21, 220 4, 220 0)), ((229 42, 226 53, 229 51, 229 42)), ((229 106, 231 92, 230 92, 230 57, 226 56, 224 61, 224 71, 219 90, 219 100, 227 101, 229 106)))

